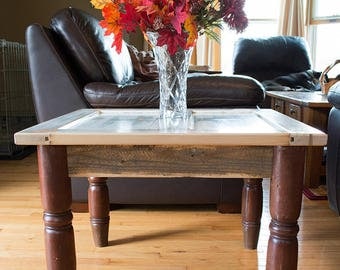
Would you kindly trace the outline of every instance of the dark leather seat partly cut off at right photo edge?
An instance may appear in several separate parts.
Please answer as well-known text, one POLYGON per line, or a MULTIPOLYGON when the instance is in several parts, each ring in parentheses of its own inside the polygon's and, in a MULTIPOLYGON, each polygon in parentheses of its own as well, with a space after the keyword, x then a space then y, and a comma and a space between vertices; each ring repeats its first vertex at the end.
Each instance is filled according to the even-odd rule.
POLYGON ((340 82, 329 89, 327 97, 333 105, 328 117, 327 194, 330 208, 340 215, 340 82))

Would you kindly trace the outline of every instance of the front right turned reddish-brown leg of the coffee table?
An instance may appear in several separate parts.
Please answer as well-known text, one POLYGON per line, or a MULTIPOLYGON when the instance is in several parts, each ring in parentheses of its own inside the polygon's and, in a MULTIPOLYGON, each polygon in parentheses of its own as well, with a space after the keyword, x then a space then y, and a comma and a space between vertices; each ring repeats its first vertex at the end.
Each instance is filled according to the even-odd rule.
POLYGON ((301 211, 304 157, 305 147, 274 148, 267 270, 297 269, 297 219, 301 211))

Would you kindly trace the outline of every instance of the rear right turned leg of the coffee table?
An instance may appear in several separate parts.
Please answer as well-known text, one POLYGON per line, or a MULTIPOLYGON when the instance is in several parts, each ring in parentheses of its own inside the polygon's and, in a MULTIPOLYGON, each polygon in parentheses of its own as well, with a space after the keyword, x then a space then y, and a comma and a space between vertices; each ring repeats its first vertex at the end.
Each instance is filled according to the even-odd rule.
POLYGON ((242 225, 244 247, 256 249, 262 217, 262 179, 244 179, 242 191, 242 225))

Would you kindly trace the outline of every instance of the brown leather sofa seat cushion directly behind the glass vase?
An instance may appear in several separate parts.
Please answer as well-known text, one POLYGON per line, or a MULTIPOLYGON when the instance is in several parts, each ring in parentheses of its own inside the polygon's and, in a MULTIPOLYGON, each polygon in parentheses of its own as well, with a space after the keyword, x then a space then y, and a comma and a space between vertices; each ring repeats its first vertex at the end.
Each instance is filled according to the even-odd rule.
MULTIPOLYGON (((189 74, 187 104, 194 107, 254 107, 264 100, 264 88, 246 76, 189 74)), ((159 106, 158 81, 134 83, 118 87, 111 83, 89 83, 84 96, 95 108, 159 106)))

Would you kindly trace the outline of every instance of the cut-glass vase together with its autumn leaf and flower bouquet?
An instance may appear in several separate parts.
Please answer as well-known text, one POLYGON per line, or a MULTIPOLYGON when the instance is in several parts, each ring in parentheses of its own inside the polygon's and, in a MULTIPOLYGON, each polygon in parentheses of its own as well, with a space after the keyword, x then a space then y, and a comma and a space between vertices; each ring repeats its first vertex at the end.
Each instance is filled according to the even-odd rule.
POLYGON ((243 31, 248 20, 244 0, 91 0, 101 9, 101 27, 113 34, 119 53, 124 32, 139 28, 153 47, 159 71, 160 118, 186 118, 186 77, 198 35, 219 40, 215 28, 226 24, 243 31))

